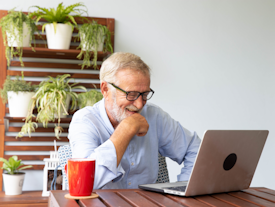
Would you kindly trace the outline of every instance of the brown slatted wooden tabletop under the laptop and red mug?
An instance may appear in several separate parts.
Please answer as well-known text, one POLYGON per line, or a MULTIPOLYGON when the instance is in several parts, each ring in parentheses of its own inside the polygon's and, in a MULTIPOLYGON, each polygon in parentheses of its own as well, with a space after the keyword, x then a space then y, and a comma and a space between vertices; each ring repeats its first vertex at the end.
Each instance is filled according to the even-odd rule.
POLYGON ((51 191, 49 206, 59 207, 127 207, 127 206, 169 206, 169 207, 209 207, 244 206, 275 207, 275 191, 267 188, 249 188, 247 190, 195 197, 180 197, 154 193, 140 189, 95 190, 96 199, 69 200, 64 198, 68 191, 51 191))

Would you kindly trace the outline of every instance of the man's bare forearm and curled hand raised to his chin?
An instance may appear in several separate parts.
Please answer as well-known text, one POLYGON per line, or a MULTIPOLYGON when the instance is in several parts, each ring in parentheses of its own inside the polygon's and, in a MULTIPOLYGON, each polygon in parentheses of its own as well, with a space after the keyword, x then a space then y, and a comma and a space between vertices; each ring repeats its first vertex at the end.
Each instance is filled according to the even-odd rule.
POLYGON ((149 124, 146 119, 136 113, 125 118, 115 129, 114 133, 110 137, 116 148, 117 154, 117 166, 119 165, 122 156, 127 149, 131 139, 137 136, 144 136, 147 134, 149 124))

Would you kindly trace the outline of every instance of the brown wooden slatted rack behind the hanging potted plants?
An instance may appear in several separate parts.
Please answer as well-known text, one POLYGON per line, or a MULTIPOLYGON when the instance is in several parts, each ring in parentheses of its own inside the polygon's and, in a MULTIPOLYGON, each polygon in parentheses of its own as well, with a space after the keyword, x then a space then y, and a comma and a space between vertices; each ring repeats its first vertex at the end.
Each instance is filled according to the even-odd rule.
MULTIPOLYGON (((7 11, 0 10, 0 18, 5 16, 7 11)), ((108 26, 112 32, 112 44, 114 48, 114 23, 112 18, 93 18, 86 17, 87 19, 95 19, 98 23, 108 26)), ((78 23, 82 21, 76 19, 78 23)), ((43 20, 41 20, 42 22, 43 20)), ((41 30, 41 26, 38 27, 41 30)), ((75 29, 74 32, 77 32, 75 29)), ((74 33, 73 35, 75 35, 74 33)), ((42 39, 46 40, 45 34, 42 34, 42 39)), ((11 78, 15 78, 17 75, 21 76, 21 71, 24 71, 26 81, 32 82, 32 84, 39 84, 41 81, 46 80, 47 76, 56 77, 57 75, 71 74, 71 77, 75 79, 75 82, 79 82, 80 85, 85 86, 88 90, 94 88, 100 88, 99 84, 99 70, 94 70, 92 67, 81 70, 79 65, 82 61, 78 60, 76 56, 80 50, 76 50, 79 42, 74 42, 72 38, 71 46, 69 50, 50 50, 47 48, 46 41, 41 40, 36 35, 36 47, 33 52, 31 48, 23 49, 23 61, 24 67, 21 67, 18 58, 14 58, 11 61, 11 65, 7 68, 7 61, 5 58, 5 48, 2 41, 2 33, 0 34, 0 86, 2 87, 7 75, 11 78)), ((109 55, 109 53, 98 53, 98 69, 100 69, 101 62, 109 55)), ((81 92, 81 91, 77 91, 81 92)), ((49 157, 49 152, 54 150, 53 142, 57 141, 57 145, 63 145, 68 142, 68 126, 73 115, 73 111, 66 118, 61 119, 64 132, 60 140, 54 137, 54 125, 55 123, 49 123, 48 128, 43 128, 41 125, 36 132, 32 134, 32 137, 15 138, 23 125, 23 117, 15 118, 9 116, 9 108, 0 103, 0 157, 9 158, 12 155, 18 155, 25 164, 32 164, 36 161, 36 164, 32 164, 33 168, 30 170, 43 170, 44 158, 49 157), (5 131, 4 119, 8 122, 5 131), (39 161, 37 163, 37 161, 39 161)), ((2 174, 0 170, 0 174, 2 174)), ((28 172, 28 171, 26 171, 28 172)), ((43 178, 41 178, 43 179, 43 178)), ((2 176, 0 176, 0 191, 2 190, 2 176)))

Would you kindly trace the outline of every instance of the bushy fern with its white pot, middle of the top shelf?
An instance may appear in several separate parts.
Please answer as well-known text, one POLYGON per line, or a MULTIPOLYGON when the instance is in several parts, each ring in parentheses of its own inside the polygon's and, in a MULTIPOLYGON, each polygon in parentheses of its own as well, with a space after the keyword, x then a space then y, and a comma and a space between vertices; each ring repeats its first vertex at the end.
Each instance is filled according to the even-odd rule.
POLYGON ((74 26, 77 26, 75 17, 87 14, 87 8, 82 3, 72 4, 65 7, 63 3, 57 8, 42 8, 33 6, 38 10, 32 12, 30 16, 38 22, 41 18, 49 23, 43 24, 42 32, 46 28, 47 44, 49 49, 69 49, 74 26))

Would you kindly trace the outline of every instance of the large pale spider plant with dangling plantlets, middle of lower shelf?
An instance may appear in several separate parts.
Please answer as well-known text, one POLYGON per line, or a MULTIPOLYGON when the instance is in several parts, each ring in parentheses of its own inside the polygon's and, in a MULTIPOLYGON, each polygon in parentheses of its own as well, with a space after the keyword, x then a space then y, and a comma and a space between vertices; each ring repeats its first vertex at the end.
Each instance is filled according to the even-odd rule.
POLYGON ((36 122, 33 121, 33 109, 37 107, 36 121, 42 123, 43 127, 47 127, 48 122, 58 119, 58 124, 55 126, 55 136, 59 139, 63 128, 60 126, 60 118, 62 115, 68 115, 68 107, 71 99, 71 110, 77 107, 77 93, 73 89, 81 89, 86 91, 84 86, 76 86, 78 83, 70 84, 72 78, 69 74, 62 76, 58 75, 56 78, 50 77, 46 81, 39 84, 35 95, 33 96, 32 106, 26 116, 25 124, 17 137, 22 137, 35 131, 37 127, 36 122), (69 79, 68 79, 69 78, 69 79), (67 102, 67 103, 66 103, 67 102))

